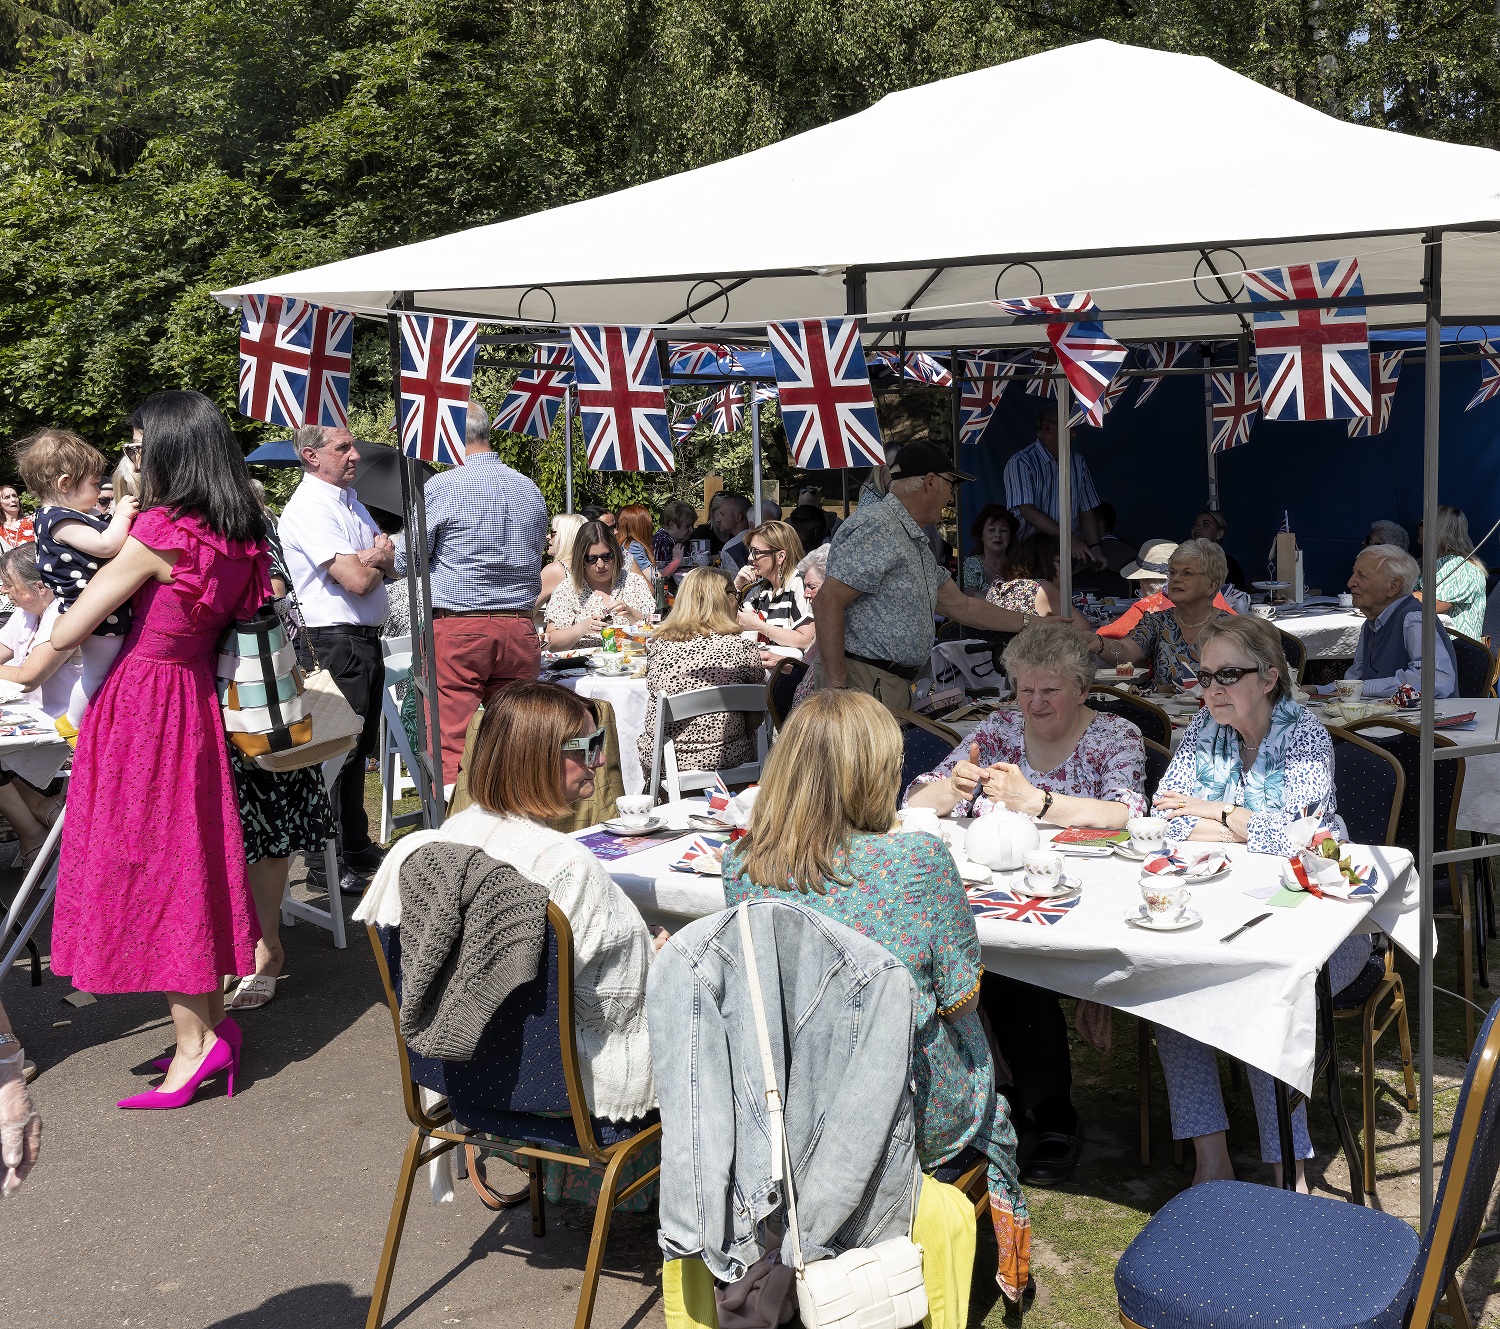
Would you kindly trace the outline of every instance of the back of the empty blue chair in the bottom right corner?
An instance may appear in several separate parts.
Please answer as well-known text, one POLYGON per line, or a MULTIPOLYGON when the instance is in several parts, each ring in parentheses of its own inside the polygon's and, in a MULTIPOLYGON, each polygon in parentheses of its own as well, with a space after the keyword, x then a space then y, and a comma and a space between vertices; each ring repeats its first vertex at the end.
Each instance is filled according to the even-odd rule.
POLYGON ((1500 1002, 1479 1030, 1468 1072, 1458 1090, 1448 1155, 1437 1184, 1432 1220, 1422 1236, 1422 1252, 1413 1311, 1408 1324, 1431 1324, 1438 1298, 1452 1284, 1458 1266, 1468 1258, 1484 1226, 1490 1197, 1500 1173, 1500 1002))

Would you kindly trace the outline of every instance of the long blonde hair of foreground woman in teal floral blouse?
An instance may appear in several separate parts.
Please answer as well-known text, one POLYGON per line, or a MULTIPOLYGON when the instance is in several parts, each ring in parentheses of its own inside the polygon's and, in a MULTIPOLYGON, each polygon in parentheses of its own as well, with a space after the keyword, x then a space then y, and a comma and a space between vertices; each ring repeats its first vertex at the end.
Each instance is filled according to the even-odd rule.
POLYGON ((900 792, 902 730, 891 712, 862 692, 814 692, 766 758, 735 868, 782 891, 848 885, 850 837, 890 831, 900 792))

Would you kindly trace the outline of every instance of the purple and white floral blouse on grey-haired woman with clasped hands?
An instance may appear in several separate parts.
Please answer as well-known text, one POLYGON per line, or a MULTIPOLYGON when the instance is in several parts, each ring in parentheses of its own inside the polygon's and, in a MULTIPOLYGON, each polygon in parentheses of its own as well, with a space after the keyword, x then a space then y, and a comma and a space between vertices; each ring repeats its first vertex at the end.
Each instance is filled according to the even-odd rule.
MULTIPOLYGON (((1047 794, 1062 794, 1070 798, 1101 798, 1106 802, 1124 802, 1132 818, 1146 814, 1146 747, 1140 730, 1122 716, 1095 716, 1083 738, 1068 759, 1052 771, 1038 771, 1026 759, 1024 722, 1020 711, 996 711, 963 740, 942 765, 926 776, 912 780, 906 796, 918 784, 946 780, 958 762, 969 760, 969 744, 980 747, 980 765, 993 766, 1008 762, 1022 768, 1022 774, 1047 794)), ((956 808, 958 812, 963 804, 956 808)), ((975 790, 969 816, 984 816, 994 804, 984 790, 975 790)))

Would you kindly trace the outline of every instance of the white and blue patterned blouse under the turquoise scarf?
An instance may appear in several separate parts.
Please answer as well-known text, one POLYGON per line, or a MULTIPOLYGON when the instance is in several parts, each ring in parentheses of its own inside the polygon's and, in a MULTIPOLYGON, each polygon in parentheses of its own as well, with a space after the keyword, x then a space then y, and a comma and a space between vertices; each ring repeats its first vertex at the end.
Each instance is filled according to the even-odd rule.
MULTIPOLYGON (((1317 718, 1302 706, 1302 714, 1287 732, 1286 756, 1282 760, 1282 806, 1254 812, 1250 814, 1248 848, 1251 854, 1292 854, 1287 842, 1287 824, 1302 818, 1310 807, 1322 807, 1323 820, 1341 838, 1344 824, 1338 819, 1338 798, 1334 789, 1334 742, 1328 730, 1317 718)), ((1212 716, 1208 708, 1198 711, 1182 734, 1182 744, 1178 747, 1167 774, 1161 777, 1161 789, 1173 789, 1188 798, 1203 798, 1203 789, 1197 778, 1198 756, 1210 744, 1212 716)), ((1234 807, 1245 806, 1245 771, 1239 760, 1239 746, 1234 747, 1234 774, 1230 778, 1230 790, 1224 794, 1224 802, 1234 807)), ((1172 818, 1167 824, 1168 840, 1186 840, 1197 818, 1172 818)))

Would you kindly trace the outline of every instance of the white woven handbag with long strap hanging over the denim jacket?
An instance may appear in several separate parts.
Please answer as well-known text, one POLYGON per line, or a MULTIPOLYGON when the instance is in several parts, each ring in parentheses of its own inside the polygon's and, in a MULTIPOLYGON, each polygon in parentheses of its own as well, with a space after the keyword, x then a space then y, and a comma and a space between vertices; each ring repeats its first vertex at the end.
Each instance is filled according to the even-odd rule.
MULTIPOLYGON (((776 1060, 771 1032, 765 1023, 760 998, 760 970, 750 938, 750 904, 741 900, 740 944, 746 956, 750 1004, 754 1010, 756 1040, 760 1044, 760 1071, 765 1076, 766 1124, 771 1128, 771 1180, 782 1184, 786 1196, 786 1240, 796 1275, 796 1311, 804 1329, 908 1329, 927 1316, 927 1286, 922 1282, 922 1248, 910 1236, 891 1238, 879 1245, 844 1251, 826 1260, 802 1263, 802 1244, 796 1228, 796 1192, 792 1186, 792 1155, 786 1143, 782 1094, 776 1088, 776 1060)), ((910 1224, 916 1221, 916 1192, 921 1168, 912 1180, 910 1224)))

